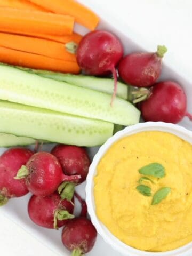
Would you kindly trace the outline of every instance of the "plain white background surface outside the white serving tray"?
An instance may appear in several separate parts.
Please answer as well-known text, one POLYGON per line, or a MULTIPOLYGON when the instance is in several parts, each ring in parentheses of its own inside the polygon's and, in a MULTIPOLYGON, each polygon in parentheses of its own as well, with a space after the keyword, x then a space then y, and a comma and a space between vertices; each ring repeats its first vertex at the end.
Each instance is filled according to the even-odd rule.
MULTIPOLYGON (((1 1, 1 0, 0 0, 1 1)), ((65 1, 65 0, 63 0, 65 1)), ((191 0, 82 0, 100 15, 106 11, 126 27, 125 33, 138 35, 139 44, 148 51, 157 44, 165 44, 169 52, 165 61, 192 83, 192 1, 191 0)), ((191 84, 192 86, 192 84, 191 84)), ((10 202, 11 203, 11 202, 10 202)), ((4 256, 56 255, 46 249, 15 223, 9 221, 0 209, 0 247, 4 256)), ((88 254, 87 254, 88 255, 88 254)))

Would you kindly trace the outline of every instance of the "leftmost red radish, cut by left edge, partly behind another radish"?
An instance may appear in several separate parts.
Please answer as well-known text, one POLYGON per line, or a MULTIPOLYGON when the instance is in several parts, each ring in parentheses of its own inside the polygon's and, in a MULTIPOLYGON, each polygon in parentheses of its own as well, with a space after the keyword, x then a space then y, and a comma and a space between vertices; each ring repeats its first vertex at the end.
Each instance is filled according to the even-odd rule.
POLYGON ((9 198, 24 196, 28 193, 23 180, 15 180, 14 176, 23 164, 26 164, 33 152, 26 148, 11 148, 0 157, 0 205, 9 198))

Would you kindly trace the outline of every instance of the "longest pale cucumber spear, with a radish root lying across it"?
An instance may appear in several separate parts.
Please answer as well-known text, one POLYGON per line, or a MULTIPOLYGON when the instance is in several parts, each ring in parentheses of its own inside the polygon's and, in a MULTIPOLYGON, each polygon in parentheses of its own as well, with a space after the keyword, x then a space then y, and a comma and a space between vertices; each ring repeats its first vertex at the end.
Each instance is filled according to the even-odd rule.
POLYGON ((123 99, 116 98, 111 108, 108 94, 4 65, 0 65, 0 99, 122 125, 138 123, 140 118, 139 110, 123 99))

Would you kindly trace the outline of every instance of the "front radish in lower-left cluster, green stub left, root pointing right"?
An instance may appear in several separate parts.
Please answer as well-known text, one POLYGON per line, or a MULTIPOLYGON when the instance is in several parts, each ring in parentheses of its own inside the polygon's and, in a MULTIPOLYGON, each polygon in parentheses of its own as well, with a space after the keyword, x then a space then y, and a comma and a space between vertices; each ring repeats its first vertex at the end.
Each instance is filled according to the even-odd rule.
MULTIPOLYGON (((23 165, 15 177, 15 179, 23 178, 25 178, 27 188, 32 194, 48 196, 58 189, 62 181, 67 182, 67 184, 69 181, 75 182, 81 179, 81 175, 66 176, 55 156, 47 152, 38 152, 30 157, 26 166, 23 165)), ((67 184, 65 183, 63 188, 67 184)), ((70 199, 72 197, 73 195, 70 195, 70 199)))

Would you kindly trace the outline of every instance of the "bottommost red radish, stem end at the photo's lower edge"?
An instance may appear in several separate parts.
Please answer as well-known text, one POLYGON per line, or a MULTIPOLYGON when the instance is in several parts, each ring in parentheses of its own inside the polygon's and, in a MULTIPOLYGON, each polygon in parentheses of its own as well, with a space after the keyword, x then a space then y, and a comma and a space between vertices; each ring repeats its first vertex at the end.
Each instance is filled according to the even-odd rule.
POLYGON ((81 256, 91 251, 97 238, 97 231, 90 220, 78 217, 69 220, 62 231, 62 242, 72 256, 81 256))

